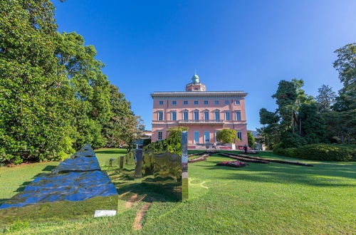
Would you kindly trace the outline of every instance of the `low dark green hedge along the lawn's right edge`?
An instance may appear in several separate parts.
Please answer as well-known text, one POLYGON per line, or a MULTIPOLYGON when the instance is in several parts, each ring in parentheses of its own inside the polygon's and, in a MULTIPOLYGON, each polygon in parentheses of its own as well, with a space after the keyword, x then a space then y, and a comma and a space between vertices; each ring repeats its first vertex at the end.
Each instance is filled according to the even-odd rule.
POLYGON ((323 160, 335 162, 356 161, 355 145, 327 145, 313 144, 286 149, 276 148, 273 150, 277 155, 298 157, 307 160, 323 160))

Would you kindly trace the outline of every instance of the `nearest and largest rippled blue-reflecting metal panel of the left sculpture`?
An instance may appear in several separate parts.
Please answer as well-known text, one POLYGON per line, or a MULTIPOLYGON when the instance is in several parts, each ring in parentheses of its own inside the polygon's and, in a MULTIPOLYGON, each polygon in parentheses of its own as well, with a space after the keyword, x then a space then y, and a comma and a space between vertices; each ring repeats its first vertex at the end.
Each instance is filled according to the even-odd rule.
POLYGON ((90 197, 112 195, 117 195, 115 185, 106 173, 98 170, 43 174, 28 184, 23 192, 2 204, 0 209, 61 200, 83 201, 90 197))

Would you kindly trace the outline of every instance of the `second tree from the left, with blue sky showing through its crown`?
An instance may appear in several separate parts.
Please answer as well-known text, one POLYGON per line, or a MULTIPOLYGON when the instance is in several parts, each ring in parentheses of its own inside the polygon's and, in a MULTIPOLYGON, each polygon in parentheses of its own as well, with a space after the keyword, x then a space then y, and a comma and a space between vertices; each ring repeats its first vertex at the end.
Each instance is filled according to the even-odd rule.
POLYGON ((110 83, 101 71, 105 65, 95 60, 94 46, 85 46, 83 37, 77 33, 56 33, 55 53, 60 74, 67 78, 75 98, 75 147, 85 143, 103 147, 103 125, 112 116, 110 83))

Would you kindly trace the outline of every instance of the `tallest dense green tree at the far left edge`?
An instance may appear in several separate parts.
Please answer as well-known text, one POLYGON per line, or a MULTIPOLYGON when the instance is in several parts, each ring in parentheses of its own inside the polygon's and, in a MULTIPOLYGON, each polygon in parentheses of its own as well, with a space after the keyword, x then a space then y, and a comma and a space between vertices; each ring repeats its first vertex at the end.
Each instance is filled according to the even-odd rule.
POLYGON ((0 1, 0 162, 72 151, 73 105, 58 74, 53 12, 47 0, 0 1))

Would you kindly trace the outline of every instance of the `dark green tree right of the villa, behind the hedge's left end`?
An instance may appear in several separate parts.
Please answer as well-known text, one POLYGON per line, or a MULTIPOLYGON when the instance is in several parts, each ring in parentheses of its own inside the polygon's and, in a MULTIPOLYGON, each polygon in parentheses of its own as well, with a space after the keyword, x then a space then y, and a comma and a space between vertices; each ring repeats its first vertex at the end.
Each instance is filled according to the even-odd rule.
POLYGON ((322 123, 313 125, 313 122, 308 121, 308 119, 315 120, 315 117, 319 116, 310 110, 316 107, 315 100, 311 95, 305 94, 303 85, 303 80, 281 80, 276 93, 272 95, 278 105, 276 111, 270 112, 261 108, 260 122, 263 127, 259 129, 258 140, 268 148, 277 145, 298 147, 325 139, 322 123), (321 129, 318 130, 318 127, 321 129))

